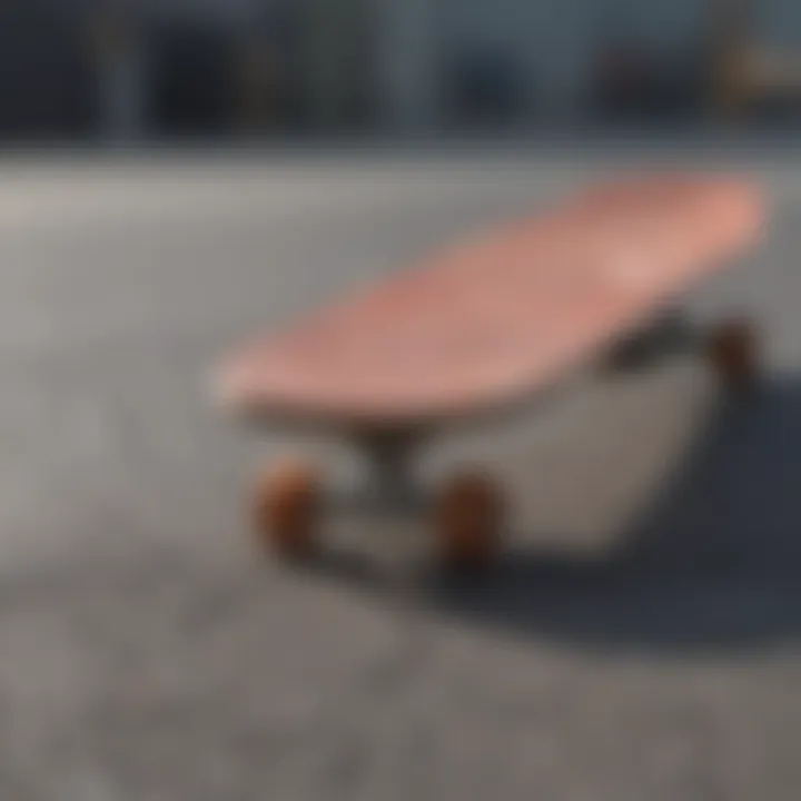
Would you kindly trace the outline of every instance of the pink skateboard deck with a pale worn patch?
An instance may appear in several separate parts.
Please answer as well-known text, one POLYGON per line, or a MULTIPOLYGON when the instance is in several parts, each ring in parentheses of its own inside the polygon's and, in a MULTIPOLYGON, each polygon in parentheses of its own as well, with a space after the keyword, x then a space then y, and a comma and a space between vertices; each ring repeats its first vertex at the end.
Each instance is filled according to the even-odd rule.
POLYGON ((733 180, 600 186, 257 342, 222 390, 243 411, 354 424, 513 400, 753 244, 762 219, 759 194, 733 180))

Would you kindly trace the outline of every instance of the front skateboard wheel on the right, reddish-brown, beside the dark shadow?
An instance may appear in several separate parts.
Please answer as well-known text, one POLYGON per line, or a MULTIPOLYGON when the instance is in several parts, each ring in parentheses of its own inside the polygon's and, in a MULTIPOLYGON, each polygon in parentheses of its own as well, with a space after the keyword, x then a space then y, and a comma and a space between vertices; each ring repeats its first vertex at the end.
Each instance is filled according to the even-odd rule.
POLYGON ((504 501, 481 473, 462 473, 442 488, 434 525, 442 560, 469 571, 490 567, 501 552, 504 501))

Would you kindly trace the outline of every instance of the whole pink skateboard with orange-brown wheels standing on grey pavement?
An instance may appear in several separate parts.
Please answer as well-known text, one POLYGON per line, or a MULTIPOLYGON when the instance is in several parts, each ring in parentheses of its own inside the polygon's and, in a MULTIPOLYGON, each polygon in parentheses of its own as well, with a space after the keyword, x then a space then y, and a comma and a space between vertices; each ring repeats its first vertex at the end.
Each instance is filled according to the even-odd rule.
MULTIPOLYGON (((248 419, 347 437, 368 459, 372 508, 427 520, 442 560, 486 567, 502 551, 502 488, 464 471, 426 492, 414 477, 421 449, 449 424, 533 399, 582 363, 647 338, 684 293, 755 245, 764 216, 758 189, 738 179, 597 185, 249 343, 225 360, 217 387, 248 419)), ((701 339, 726 387, 753 383, 748 322, 701 339)), ((308 465, 267 471, 253 510, 260 540, 287 557, 315 554, 323 485, 308 465)))

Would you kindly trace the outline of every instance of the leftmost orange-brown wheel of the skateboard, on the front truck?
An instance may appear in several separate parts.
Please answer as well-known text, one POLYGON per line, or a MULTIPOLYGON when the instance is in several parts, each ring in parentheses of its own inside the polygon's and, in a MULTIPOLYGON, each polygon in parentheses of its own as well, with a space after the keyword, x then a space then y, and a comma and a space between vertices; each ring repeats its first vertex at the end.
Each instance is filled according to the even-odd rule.
POLYGON ((285 462, 258 482, 254 523, 261 543, 291 560, 310 557, 317 546, 320 481, 313 466, 285 462))

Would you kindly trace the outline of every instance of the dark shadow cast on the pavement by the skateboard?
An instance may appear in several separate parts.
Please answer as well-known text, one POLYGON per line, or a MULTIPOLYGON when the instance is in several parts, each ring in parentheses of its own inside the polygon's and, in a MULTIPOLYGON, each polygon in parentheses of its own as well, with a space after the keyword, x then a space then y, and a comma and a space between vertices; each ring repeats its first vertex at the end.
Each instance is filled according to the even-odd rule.
POLYGON ((523 551, 479 585, 443 580, 464 621, 605 647, 725 651, 801 636, 801 384, 721 403, 672 485, 594 558, 523 551))

